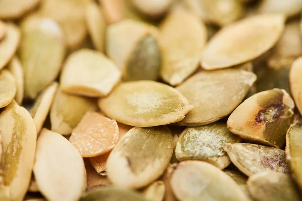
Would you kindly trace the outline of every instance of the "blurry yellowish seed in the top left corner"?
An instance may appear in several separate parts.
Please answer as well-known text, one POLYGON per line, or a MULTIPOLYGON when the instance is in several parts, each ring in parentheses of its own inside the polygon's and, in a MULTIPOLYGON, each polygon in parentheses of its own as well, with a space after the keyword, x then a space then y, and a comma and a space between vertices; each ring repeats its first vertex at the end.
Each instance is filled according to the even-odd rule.
POLYGON ((1 0, 0 19, 20 18, 37 6, 40 0, 1 0))

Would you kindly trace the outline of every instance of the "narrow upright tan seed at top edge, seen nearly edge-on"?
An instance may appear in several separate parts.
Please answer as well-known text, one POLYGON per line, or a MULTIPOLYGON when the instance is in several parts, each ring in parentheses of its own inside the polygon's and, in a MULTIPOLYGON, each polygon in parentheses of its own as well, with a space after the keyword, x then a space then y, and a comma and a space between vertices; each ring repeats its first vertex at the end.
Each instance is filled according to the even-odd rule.
POLYGON ((99 5, 94 2, 86 6, 86 24, 92 43, 100 52, 104 52, 106 22, 99 5))

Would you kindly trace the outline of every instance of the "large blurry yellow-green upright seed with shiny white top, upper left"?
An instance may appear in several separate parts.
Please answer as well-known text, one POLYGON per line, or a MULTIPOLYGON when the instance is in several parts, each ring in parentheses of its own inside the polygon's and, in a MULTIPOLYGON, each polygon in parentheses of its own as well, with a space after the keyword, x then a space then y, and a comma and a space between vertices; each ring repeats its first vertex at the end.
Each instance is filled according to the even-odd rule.
POLYGON ((35 99, 59 74, 65 52, 63 32, 55 21, 34 16, 22 23, 21 30, 25 97, 35 99))

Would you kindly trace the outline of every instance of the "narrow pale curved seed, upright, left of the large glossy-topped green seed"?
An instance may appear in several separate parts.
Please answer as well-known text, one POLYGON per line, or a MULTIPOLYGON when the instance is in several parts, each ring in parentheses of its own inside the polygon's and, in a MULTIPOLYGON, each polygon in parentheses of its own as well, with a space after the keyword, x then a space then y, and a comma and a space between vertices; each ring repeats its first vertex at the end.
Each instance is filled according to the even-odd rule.
POLYGON ((24 73, 21 66, 20 60, 17 56, 13 57, 8 65, 8 70, 15 77, 17 92, 15 95, 15 100, 17 104, 21 105, 24 96, 24 73))

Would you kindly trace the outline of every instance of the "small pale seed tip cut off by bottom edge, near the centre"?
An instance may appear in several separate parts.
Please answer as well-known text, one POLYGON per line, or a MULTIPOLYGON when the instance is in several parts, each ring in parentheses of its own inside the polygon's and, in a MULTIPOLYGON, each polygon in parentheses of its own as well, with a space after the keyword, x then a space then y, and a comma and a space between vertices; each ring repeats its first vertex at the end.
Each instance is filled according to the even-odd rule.
POLYGON ((150 201, 162 201, 165 195, 163 181, 155 181, 142 191, 142 195, 150 201))

